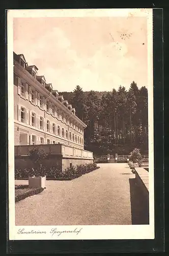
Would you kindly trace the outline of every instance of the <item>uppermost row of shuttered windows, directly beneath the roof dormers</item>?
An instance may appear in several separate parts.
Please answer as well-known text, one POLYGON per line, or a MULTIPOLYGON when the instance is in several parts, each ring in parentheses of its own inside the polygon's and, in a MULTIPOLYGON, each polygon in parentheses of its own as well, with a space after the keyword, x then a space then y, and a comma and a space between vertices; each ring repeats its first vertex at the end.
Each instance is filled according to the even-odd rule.
POLYGON ((73 122, 72 119, 70 119, 70 116, 63 113, 60 109, 58 109, 54 104, 52 104, 49 100, 45 100, 45 97, 40 95, 39 92, 34 90, 31 86, 29 86, 27 83, 21 81, 21 79, 18 77, 18 94, 27 99, 30 100, 33 104, 38 105, 40 109, 45 110, 46 113, 51 114, 53 117, 57 118, 58 120, 61 120, 63 123, 66 123, 72 129, 79 132, 80 134, 83 134, 83 129, 80 129, 80 127, 73 122))

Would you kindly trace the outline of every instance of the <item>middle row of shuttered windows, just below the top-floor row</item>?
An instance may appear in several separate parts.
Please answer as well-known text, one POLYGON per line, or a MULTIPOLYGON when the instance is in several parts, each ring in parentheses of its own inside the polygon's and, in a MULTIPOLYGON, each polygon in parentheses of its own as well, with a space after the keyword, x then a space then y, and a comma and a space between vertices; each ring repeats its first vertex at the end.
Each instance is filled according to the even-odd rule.
POLYGON ((30 124, 34 127, 37 127, 40 130, 46 130, 46 132, 51 133, 53 135, 57 135, 62 138, 66 138, 67 140, 73 141, 80 145, 83 145, 83 139, 76 134, 69 132, 68 130, 61 127, 60 125, 56 125, 55 123, 51 123, 49 120, 46 120, 46 127, 44 118, 42 116, 38 116, 36 113, 23 108, 22 106, 18 105, 18 121, 22 123, 30 124), (46 129, 45 129, 46 128, 46 129))

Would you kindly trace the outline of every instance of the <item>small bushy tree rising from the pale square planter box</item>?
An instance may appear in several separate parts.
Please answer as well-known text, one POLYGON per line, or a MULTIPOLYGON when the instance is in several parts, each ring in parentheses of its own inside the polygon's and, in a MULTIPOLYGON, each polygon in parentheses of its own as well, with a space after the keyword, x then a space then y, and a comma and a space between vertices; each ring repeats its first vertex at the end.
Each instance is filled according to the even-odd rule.
POLYGON ((41 150, 39 147, 34 147, 32 150, 30 150, 27 155, 29 155, 29 158, 34 163, 35 168, 39 169, 39 172, 43 169, 43 166, 41 164, 41 160, 46 158, 46 153, 44 150, 41 150))

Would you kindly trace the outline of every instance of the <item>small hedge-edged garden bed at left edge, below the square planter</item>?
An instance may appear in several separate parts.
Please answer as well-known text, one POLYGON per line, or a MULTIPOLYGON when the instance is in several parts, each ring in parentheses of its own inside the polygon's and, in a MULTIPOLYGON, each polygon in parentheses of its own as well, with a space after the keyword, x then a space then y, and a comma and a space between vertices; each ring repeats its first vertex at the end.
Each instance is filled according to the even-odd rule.
POLYGON ((44 188, 29 188, 28 185, 15 185, 15 203, 41 193, 44 188))

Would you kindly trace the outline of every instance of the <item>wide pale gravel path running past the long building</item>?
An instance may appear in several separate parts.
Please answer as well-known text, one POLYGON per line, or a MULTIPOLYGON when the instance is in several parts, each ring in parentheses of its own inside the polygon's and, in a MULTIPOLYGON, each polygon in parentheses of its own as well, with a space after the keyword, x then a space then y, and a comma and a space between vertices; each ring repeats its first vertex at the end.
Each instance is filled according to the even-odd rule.
POLYGON ((47 181, 42 193, 16 203, 16 225, 132 224, 129 179, 135 175, 124 163, 98 165, 72 181, 47 181))

